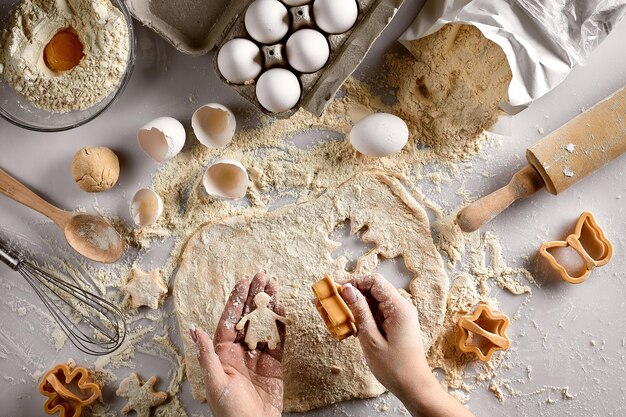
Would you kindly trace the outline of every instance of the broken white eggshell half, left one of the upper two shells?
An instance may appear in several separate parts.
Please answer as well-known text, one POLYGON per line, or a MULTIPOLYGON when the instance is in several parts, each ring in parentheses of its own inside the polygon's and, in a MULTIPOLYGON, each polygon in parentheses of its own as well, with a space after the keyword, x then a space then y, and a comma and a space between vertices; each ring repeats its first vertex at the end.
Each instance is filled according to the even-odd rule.
POLYGON ((159 117, 137 131, 139 146, 157 162, 172 159, 185 146, 185 128, 173 117, 159 117))

